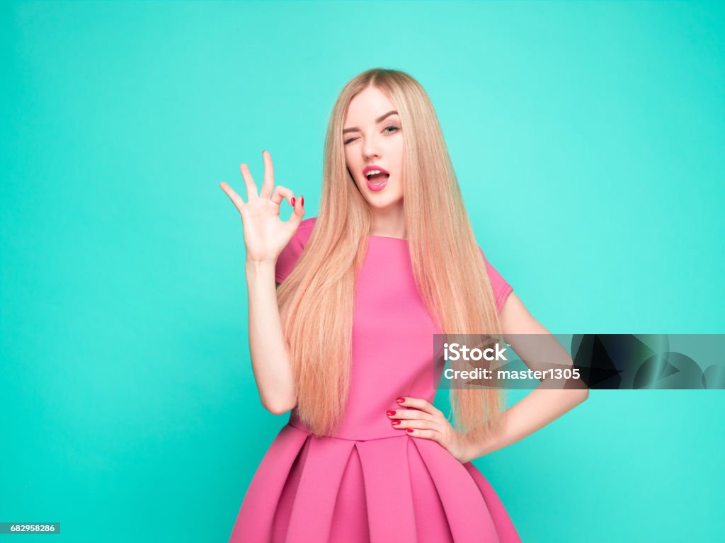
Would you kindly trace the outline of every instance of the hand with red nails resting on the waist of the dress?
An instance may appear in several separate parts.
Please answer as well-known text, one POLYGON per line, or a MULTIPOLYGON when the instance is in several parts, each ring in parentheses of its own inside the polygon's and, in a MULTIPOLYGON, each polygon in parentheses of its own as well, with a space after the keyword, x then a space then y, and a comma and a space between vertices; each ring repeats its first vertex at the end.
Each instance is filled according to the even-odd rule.
POLYGON ((398 405, 413 409, 387 411, 386 415, 392 420, 393 428, 400 428, 413 437, 433 439, 460 463, 473 460, 471 447, 463 434, 451 426, 441 410, 422 398, 403 397, 396 401, 398 405))

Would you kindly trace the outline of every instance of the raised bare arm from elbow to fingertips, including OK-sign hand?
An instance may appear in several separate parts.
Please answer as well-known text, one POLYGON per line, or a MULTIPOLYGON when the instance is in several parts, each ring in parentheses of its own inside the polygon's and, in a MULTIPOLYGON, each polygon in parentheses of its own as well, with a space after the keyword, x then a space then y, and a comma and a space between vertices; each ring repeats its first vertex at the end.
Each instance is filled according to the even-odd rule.
POLYGON ((297 404, 297 391, 277 304, 275 265, 280 252, 297 232, 305 210, 300 199, 294 200, 294 193, 289 188, 274 186, 272 158, 267 152, 263 152, 262 156, 265 179, 259 194, 249 167, 246 164, 239 167, 247 187, 248 202, 244 202, 227 183, 220 183, 220 186, 239 210, 244 228, 249 353, 254 380, 262 405, 279 415, 297 404), (279 218, 283 199, 294 206, 294 212, 286 221, 279 218))

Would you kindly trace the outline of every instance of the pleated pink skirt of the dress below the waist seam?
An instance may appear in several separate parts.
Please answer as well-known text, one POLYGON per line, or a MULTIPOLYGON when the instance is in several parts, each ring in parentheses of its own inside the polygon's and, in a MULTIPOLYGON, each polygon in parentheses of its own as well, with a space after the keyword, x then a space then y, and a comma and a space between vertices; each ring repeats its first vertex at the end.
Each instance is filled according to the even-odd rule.
POLYGON ((430 439, 317 437, 287 424, 239 510, 231 543, 520 542, 492 486, 430 439))

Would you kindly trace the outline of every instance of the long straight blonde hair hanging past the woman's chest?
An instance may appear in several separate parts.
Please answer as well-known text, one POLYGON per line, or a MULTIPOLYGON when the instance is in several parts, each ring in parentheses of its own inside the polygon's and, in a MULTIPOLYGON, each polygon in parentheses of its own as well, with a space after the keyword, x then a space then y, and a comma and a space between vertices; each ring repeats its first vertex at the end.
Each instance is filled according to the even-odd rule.
MULTIPOLYGON (((428 94, 398 70, 376 68, 357 75, 331 112, 315 227, 278 288, 297 380, 297 415, 318 436, 332 434, 344 413, 355 283, 372 228, 368 203, 347 170, 342 137, 350 101, 368 86, 389 97, 402 123, 408 246, 415 284, 431 318, 442 333, 501 333, 484 259, 428 94)), ((450 399, 455 428, 470 439, 500 428, 502 391, 451 389, 450 399)))

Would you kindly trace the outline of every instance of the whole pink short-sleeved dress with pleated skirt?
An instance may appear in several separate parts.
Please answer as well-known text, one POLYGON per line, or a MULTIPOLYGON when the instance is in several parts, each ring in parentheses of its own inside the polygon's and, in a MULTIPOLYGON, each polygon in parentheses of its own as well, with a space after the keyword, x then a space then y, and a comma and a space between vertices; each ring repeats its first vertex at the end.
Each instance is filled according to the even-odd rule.
MULTIPOLYGON (((310 239, 302 221, 277 260, 284 281, 310 239)), ((485 257, 484 257, 485 258, 485 257)), ((511 286, 486 260, 497 309, 511 286)), ((397 397, 433 402, 432 334, 407 240, 370 236, 357 280, 352 380, 335 436, 310 434, 292 410, 254 473, 231 543, 521 542, 481 472, 431 439, 394 428, 397 397)), ((406 407, 403 407, 406 409, 406 407)))

